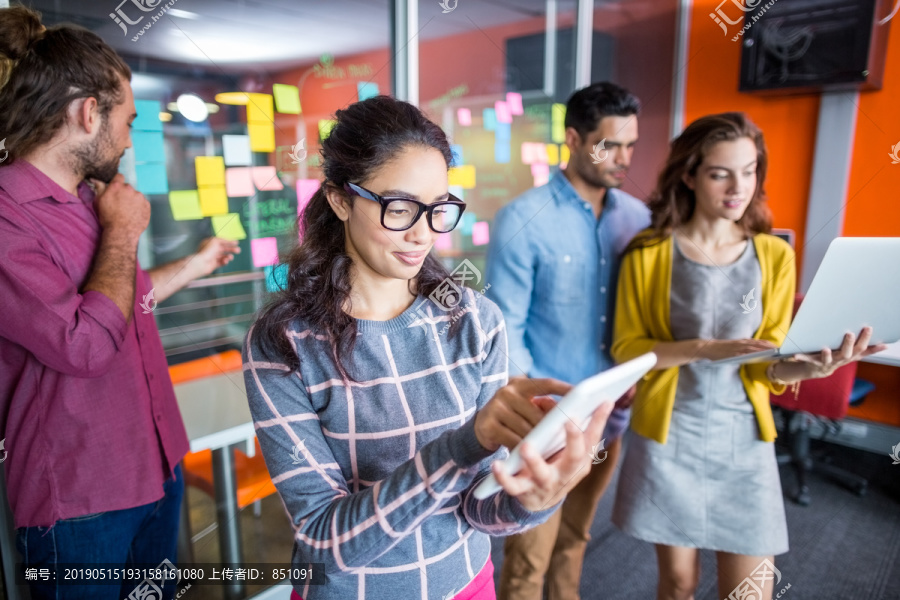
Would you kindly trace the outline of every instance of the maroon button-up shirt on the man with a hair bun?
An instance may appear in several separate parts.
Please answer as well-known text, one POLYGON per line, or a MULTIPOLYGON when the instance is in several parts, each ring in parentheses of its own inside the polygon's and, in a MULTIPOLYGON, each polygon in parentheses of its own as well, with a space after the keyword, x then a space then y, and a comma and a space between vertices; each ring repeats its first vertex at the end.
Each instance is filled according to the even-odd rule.
POLYGON ((0 437, 16 527, 159 500, 187 435, 137 268, 134 316, 82 293, 100 243, 94 194, 0 167, 0 437))

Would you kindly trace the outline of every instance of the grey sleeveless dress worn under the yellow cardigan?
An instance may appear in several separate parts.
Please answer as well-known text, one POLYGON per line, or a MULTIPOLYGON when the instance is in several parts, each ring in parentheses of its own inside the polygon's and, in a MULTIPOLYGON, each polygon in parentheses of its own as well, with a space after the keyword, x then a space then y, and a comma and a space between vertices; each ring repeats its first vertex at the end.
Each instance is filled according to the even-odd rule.
MULTIPOLYGON (((674 338, 752 337, 762 319, 752 240, 725 267, 694 262, 673 245, 674 338), (750 290, 754 298, 744 301, 750 290)), ((738 369, 682 366, 667 443, 628 431, 613 510, 613 522, 625 533, 655 544, 751 556, 787 552, 775 446, 759 439, 738 369)))

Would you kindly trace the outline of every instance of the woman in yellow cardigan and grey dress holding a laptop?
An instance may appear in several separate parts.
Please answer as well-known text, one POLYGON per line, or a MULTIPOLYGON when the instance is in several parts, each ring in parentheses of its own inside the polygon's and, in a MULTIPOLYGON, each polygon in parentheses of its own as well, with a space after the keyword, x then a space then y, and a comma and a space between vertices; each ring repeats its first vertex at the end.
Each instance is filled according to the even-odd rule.
POLYGON ((693 598, 700 548, 717 552, 719 598, 772 597, 788 540, 769 393, 881 349, 863 330, 835 353, 704 364, 779 346, 790 325, 794 253, 768 234, 766 165, 745 115, 691 123, 622 262, 612 355, 659 362, 638 384, 613 521, 656 545, 660 600, 693 598))

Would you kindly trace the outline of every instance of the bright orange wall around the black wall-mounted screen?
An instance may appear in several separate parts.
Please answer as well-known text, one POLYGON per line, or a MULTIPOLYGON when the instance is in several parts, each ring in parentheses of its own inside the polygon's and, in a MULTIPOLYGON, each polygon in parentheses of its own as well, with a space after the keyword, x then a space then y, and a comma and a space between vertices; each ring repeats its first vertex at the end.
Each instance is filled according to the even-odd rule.
MULTIPOLYGON (((691 14, 685 123, 706 114, 742 110, 759 125, 769 151, 766 190, 776 227, 797 232, 798 273, 802 264, 819 97, 758 96, 737 91, 740 41, 709 17, 719 0, 695 0, 691 14)), ((888 153, 900 141, 896 98, 900 97, 900 35, 888 43, 884 87, 860 95, 844 235, 900 236, 900 164, 888 153)), ((862 364, 859 376, 877 389, 851 414, 900 426, 900 368, 862 364)))

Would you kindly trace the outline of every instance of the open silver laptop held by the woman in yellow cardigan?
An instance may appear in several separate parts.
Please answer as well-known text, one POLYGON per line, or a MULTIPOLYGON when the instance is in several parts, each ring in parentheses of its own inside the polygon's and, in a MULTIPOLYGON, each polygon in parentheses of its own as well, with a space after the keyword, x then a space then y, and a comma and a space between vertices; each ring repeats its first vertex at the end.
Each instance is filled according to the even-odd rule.
POLYGON ((761 362, 840 348, 872 327, 871 344, 900 340, 900 238, 837 238, 828 246, 781 348, 706 364, 761 362))

